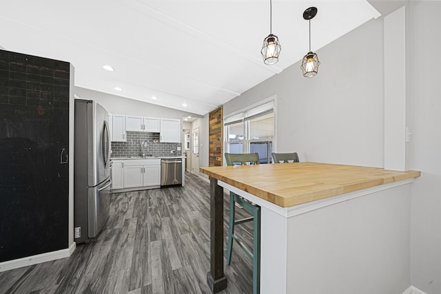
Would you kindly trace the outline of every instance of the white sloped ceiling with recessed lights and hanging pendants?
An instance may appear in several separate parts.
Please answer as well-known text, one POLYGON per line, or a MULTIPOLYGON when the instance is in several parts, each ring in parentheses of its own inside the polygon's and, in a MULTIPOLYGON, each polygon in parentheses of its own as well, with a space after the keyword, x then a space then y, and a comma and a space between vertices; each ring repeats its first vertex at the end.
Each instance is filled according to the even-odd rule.
POLYGON ((265 65, 269 0, 1 0, 0 46, 71 62, 76 86, 203 115, 302 59, 309 6, 313 51, 380 16, 365 0, 274 0, 282 51, 265 65))

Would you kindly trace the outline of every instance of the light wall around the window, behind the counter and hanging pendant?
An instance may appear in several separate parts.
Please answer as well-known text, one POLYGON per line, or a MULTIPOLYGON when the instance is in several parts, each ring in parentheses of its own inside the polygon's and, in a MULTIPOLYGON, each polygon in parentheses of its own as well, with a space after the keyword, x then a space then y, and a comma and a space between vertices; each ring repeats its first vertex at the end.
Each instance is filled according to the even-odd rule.
POLYGON ((296 151, 302 161, 382 167, 382 19, 317 53, 317 76, 304 78, 295 63, 226 103, 224 115, 277 95, 275 151, 296 151))

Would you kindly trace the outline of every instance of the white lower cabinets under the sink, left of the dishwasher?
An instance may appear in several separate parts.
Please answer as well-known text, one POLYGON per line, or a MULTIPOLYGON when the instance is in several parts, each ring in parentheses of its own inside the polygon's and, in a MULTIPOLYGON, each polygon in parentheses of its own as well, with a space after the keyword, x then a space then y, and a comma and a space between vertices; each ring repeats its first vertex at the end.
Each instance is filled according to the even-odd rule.
POLYGON ((161 185, 160 158, 113 160, 113 162, 112 189, 161 185))

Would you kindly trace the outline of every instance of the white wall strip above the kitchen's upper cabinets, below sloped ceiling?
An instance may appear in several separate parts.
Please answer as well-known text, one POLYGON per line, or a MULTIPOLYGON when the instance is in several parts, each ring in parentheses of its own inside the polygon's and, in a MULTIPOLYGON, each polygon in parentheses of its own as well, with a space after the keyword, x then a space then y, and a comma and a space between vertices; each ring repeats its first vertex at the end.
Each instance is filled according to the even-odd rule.
POLYGON ((175 118, 182 120, 183 116, 201 117, 191 112, 167 108, 152 103, 144 103, 134 99, 88 90, 81 87, 75 87, 74 93, 81 99, 89 99, 103 105, 107 112, 111 114, 124 114, 133 116, 152 116, 159 118, 175 118))

